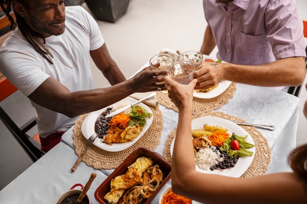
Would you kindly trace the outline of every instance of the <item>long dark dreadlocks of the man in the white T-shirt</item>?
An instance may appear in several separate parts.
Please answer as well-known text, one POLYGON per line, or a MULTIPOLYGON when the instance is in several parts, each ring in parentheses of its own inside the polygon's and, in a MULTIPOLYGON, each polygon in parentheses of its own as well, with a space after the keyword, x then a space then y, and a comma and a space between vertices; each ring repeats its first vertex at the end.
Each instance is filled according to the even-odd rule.
MULTIPOLYGON (((22 3, 23 5, 26 5, 27 0, 16 0, 16 1, 22 3)), ((13 17, 10 15, 11 2, 12 0, 0 0, 0 6, 3 12, 5 13, 5 15, 7 16, 7 18, 9 19, 9 21, 11 22, 11 25, 10 25, 11 30, 15 30, 15 28, 18 25, 18 28, 20 29, 21 33, 26 38, 26 40, 29 42, 29 44, 33 46, 35 51, 38 52, 42 57, 44 57, 50 64, 53 64, 51 59, 47 56, 49 54, 51 58, 53 58, 53 55, 51 54, 50 50, 45 45, 46 44, 45 38, 42 35, 34 32, 28 26, 25 19, 15 11, 14 11, 14 14, 16 16, 17 24, 14 22, 13 17)))

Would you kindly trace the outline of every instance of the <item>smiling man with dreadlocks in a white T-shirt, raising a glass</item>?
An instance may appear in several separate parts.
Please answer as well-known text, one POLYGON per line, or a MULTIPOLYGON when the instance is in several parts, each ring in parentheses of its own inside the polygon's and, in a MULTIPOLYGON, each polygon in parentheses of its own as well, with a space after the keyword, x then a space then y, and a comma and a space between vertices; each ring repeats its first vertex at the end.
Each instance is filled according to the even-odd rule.
POLYGON ((165 88, 166 71, 144 68, 126 80, 104 44, 98 24, 81 6, 64 0, 0 0, 17 27, 0 49, 0 72, 37 112, 42 150, 49 151, 77 116, 111 105, 134 92, 165 88), (66 10, 65 10, 66 9, 66 10), (94 89, 90 57, 112 85, 94 89))

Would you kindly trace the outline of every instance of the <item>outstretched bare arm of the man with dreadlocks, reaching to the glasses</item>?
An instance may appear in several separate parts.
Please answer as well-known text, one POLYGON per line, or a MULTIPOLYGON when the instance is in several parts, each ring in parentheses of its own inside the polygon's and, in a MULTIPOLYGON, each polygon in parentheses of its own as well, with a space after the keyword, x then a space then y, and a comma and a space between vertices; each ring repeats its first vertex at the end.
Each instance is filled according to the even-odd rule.
POLYGON ((53 78, 47 78, 28 98, 34 103, 69 117, 97 111, 134 92, 156 91, 164 88, 165 70, 144 68, 131 79, 108 88, 71 92, 53 78), (160 83, 160 84, 156 84, 160 83))

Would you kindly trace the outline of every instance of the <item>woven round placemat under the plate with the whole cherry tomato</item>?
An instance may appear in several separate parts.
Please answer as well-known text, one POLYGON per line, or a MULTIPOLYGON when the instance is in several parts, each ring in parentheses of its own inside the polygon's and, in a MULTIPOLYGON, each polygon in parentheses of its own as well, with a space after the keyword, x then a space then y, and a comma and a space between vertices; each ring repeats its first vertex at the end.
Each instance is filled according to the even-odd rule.
MULTIPOLYGON (((231 116, 229 114, 225 114, 222 112, 200 113, 200 114, 194 115, 192 117, 192 120, 198 117, 202 117, 202 116, 215 116, 215 117, 220 117, 224 119, 231 119, 231 120, 246 122, 238 117, 231 116)), ((240 127, 246 130, 246 132, 248 132, 252 136, 255 142, 255 147, 256 147, 254 160, 252 161, 250 167, 245 171, 245 173, 241 177, 250 178, 250 177, 260 176, 267 171, 268 165, 271 161, 271 149, 268 144, 268 141, 264 136, 262 136, 260 131, 256 130, 255 127, 244 126, 244 125, 241 125, 240 127)), ((166 139, 165 147, 163 150, 164 158, 170 163, 172 163, 170 147, 171 147, 173 138, 176 136, 176 130, 177 128, 175 128, 175 130, 171 132, 169 137, 166 139)))

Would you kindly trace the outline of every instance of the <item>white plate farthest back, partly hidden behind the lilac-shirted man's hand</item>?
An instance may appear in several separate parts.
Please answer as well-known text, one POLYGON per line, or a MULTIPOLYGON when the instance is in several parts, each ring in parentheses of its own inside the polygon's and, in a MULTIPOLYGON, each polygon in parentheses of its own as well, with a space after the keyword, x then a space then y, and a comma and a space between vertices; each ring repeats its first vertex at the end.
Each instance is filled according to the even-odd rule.
MULTIPOLYGON (((218 60, 216 58, 209 57, 208 55, 203 55, 203 60, 205 61, 205 59, 211 59, 214 62, 218 60)), ((225 62, 222 61, 222 63, 225 63, 225 62)), ((214 98, 216 96, 221 95, 224 91, 226 91, 228 89, 228 87, 230 86, 230 84, 231 84, 231 81, 224 80, 224 81, 221 81, 219 83, 219 86, 212 89, 211 91, 208 91, 208 92, 203 92, 203 91, 196 92, 196 91, 194 91, 193 96, 196 97, 196 98, 204 98, 204 99, 205 98, 214 98)))

